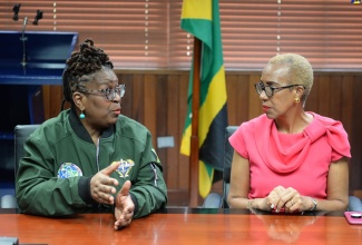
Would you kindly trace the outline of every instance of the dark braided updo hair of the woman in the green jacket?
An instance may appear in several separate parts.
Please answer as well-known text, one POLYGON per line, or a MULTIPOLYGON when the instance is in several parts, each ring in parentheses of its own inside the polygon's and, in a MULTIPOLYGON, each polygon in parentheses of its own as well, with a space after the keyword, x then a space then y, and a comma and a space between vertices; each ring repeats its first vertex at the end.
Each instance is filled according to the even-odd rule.
POLYGON ((104 67, 114 68, 108 55, 102 49, 96 48, 91 39, 86 39, 80 43, 80 50, 74 51, 66 65, 62 74, 61 110, 67 101, 74 107, 72 92, 78 91, 84 84, 91 81, 98 70, 104 67))

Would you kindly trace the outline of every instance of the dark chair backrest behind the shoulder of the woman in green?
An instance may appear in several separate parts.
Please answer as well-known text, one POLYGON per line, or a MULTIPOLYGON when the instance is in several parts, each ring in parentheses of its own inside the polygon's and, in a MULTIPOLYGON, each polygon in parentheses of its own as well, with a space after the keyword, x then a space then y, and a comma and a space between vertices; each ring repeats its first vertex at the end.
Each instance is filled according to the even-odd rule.
POLYGON ((17 125, 14 127, 14 174, 18 173, 19 161, 23 157, 23 144, 39 125, 17 125))

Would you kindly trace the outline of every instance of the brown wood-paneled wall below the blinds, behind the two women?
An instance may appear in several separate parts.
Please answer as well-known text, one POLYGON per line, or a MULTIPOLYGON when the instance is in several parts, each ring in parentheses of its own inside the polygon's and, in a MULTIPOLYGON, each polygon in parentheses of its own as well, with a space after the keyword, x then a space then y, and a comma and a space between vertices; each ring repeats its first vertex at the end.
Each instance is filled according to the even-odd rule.
MULTIPOLYGON (((188 157, 179 154, 187 110, 188 71, 116 70, 126 84, 121 111, 144 124, 153 134, 154 146, 165 167, 169 205, 188 204, 188 157), (174 137, 175 147, 158 148, 157 137, 174 137)), ((262 114, 254 90, 261 72, 226 72, 228 124, 239 125, 262 114)), ((352 146, 350 190, 362 189, 362 71, 315 72, 305 109, 341 120, 352 146)), ((43 86, 46 118, 59 112, 61 86, 43 86)), ((313 171, 313 169, 311 169, 313 171)), ((222 192, 221 188, 216 192, 222 192)))

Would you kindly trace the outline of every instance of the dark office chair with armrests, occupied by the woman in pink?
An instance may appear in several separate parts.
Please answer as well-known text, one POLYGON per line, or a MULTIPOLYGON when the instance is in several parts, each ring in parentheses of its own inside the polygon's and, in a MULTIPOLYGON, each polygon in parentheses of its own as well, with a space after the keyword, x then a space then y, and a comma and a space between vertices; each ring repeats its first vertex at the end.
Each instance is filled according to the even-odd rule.
MULTIPOLYGON (((231 168, 234 149, 228 143, 228 137, 231 137, 237 126, 227 126, 225 128, 225 138, 224 138, 224 170, 223 170, 223 196, 218 193, 211 193, 206 196, 203 207, 206 208, 228 208, 227 195, 229 190, 231 182, 231 168)), ((356 196, 349 197, 348 210, 352 212, 362 212, 362 200, 356 196)))

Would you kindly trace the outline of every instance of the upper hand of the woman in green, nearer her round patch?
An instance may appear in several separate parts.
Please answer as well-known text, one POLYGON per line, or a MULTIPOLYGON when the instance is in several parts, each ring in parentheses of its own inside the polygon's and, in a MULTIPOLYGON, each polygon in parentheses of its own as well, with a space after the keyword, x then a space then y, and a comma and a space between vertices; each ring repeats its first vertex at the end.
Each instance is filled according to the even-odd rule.
POLYGON ((115 171, 119 166, 119 163, 112 164, 105 169, 98 171, 90 179, 90 194, 91 197, 100 204, 112 205, 115 197, 111 194, 116 194, 114 186, 118 185, 118 180, 110 178, 110 174, 115 171))

